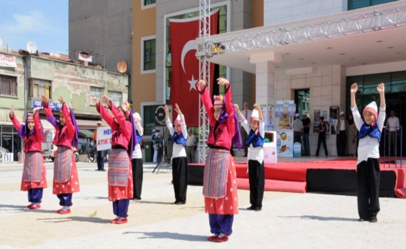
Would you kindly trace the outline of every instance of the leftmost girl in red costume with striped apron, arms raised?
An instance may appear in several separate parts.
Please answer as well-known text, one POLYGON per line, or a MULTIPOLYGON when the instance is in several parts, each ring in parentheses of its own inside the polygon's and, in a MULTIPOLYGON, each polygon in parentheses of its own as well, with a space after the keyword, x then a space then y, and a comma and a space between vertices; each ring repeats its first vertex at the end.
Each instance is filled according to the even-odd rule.
POLYGON ((26 208, 41 208, 42 193, 47 187, 46 169, 42 158, 42 140, 44 131, 40 121, 39 108, 27 113, 25 124, 21 125, 14 115, 14 106, 10 108, 10 119, 20 138, 24 139, 24 168, 21 190, 28 191, 26 208))

